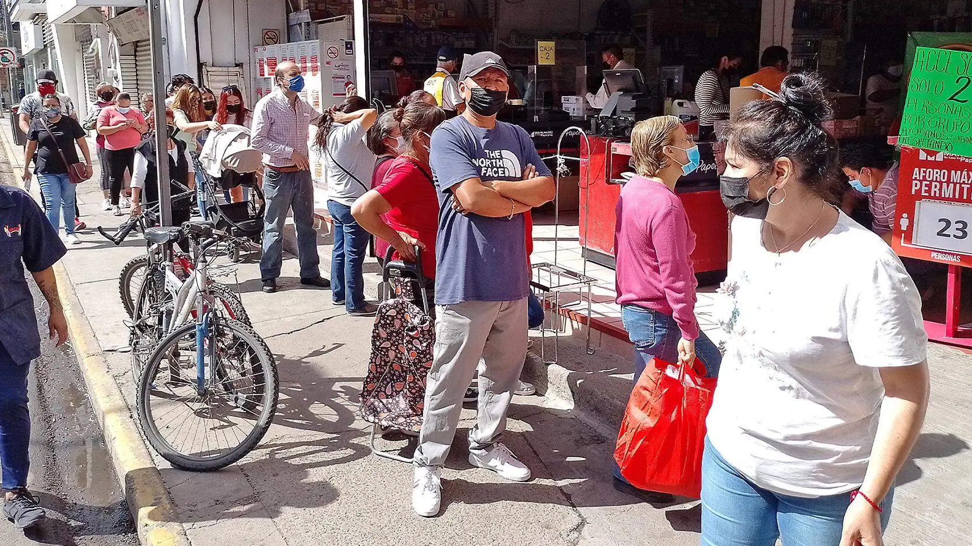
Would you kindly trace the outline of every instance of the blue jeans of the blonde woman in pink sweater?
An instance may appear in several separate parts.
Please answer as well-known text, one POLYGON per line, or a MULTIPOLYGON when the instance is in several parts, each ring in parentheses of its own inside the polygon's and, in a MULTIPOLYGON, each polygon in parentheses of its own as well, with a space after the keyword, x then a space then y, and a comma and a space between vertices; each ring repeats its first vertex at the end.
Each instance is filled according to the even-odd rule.
MULTIPOLYGON (((635 377, 631 388, 635 389, 642 372, 651 358, 660 358, 666 362, 678 361, 678 340, 681 330, 671 315, 652 311, 639 305, 621 305, 621 321, 624 329, 628 330, 628 339, 635 345, 635 377)), ((719 366, 722 364, 722 354, 709 339, 705 332, 700 331, 695 340, 695 356, 706 365, 707 377, 718 377, 719 366)), ((627 483, 621 476, 621 470, 614 463, 614 477, 627 483)))

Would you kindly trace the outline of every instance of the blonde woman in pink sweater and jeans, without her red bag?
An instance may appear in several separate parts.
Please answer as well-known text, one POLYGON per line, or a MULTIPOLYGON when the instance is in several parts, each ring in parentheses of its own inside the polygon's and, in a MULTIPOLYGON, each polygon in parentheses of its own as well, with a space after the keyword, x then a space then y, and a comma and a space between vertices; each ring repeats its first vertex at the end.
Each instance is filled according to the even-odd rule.
MULTIPOLYGON (((651 358, 718 373, 722 357, 695 319, 695 234, 675 192, 678 178, 699 167, 699 149, 675 116, 645 119, 631 133, 638 176, 621 189, 615 214, 617 303, 635 345, 635 383, 651 358)), ((614 487, 649 502, 671 495, 636 490, 615 467, 614 487)))

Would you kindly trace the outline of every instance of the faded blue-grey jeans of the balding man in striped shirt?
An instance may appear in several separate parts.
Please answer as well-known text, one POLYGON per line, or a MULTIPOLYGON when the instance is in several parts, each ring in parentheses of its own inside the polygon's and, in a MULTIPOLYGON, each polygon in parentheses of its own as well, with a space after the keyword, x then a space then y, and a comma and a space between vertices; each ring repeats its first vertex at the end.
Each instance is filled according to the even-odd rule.
POLYGON ((321 256, 317 255, 317 230, 314 229, 314 185, 309 171, 282 173, 267 168, 263 175, 263 256, 260 257, 260 280, 280 276, 284 260, 283 233, 287 213, 294 209, 297 231, 297 257, 300 278, 321 276, 321 256))

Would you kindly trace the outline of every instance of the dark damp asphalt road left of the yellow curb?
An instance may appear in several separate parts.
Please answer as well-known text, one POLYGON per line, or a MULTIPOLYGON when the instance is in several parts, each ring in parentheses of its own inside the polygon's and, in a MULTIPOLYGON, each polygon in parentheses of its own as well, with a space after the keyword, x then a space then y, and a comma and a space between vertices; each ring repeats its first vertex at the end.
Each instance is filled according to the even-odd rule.
MULTIPOLYGON (((0 180, 11 183, 0 154, 0 180)), ((48 306, 30 280, 41 327, 42 355, 31 364, 30 477, 28 488, 48 520, 22 531, 0 518, 0 545, 136 546, 138 537, 87 400, 70 342, 47 339, 48 306)))

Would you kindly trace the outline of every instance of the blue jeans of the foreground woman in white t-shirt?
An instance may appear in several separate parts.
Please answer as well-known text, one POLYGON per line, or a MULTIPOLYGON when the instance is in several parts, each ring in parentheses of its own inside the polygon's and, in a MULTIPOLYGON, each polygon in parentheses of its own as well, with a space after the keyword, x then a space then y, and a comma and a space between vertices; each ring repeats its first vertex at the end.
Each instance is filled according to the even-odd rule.
MULTIPOLYGON (((893 489, 880 506, 891 517, 893 489)), ((702 457, 702 545, 837 546, 851 494, 804 498, 762 489, 726 462, 706 439, 702 457)))

